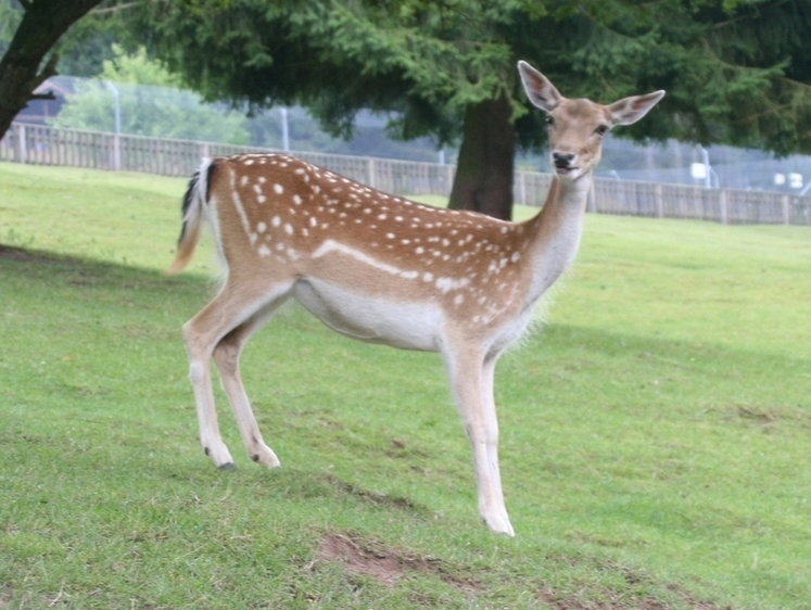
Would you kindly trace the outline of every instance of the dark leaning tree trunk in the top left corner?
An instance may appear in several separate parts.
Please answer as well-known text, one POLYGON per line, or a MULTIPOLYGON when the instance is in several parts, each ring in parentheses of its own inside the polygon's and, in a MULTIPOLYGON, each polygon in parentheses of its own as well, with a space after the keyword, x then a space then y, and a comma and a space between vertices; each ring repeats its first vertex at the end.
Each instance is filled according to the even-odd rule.
POLYGON ((46 54, 68 27, 101 1, 21 0, 25 15, 0 60, 0 138, 16 114, 35 99, 34 90, 56 74, 55 55, 42 66, 46 54))

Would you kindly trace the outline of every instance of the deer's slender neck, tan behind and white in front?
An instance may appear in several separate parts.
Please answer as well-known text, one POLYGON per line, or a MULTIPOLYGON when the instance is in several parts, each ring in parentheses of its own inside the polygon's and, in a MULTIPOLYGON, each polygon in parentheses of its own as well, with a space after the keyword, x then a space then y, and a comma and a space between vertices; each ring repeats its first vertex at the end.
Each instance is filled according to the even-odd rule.
POLYGON ((574 259, 591 188, 591 171, 575 180, 561 180, 556 176, 544 207, 529 221, 533 265, 531 303, 537 301, 574 259))

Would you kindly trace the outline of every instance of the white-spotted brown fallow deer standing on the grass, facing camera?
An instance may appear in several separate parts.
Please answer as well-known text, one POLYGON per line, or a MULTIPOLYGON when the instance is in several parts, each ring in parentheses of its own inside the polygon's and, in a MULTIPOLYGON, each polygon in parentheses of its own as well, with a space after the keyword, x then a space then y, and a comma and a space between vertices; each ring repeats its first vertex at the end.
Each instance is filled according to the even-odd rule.
POLYGON ((342 335, 441 355, 472 450, 479 514, 493 532, 515 535, 498 466, 496 361, 575 256, 605 134, 636 123, 664 96, 601 105, 563 98, 523 61, 518 71, 530 102, 546 113, 554 169, 543 207, 523 223, 416 203, 288 154, 203 160, 183 198, 167 271, 188 265, 207 221, 225 279, 182 336, 200 442, 215 466, 233 459, 217 423, 212 359, 249 456, 280 466, 239 361, 251 335, 294 300, 342 335))

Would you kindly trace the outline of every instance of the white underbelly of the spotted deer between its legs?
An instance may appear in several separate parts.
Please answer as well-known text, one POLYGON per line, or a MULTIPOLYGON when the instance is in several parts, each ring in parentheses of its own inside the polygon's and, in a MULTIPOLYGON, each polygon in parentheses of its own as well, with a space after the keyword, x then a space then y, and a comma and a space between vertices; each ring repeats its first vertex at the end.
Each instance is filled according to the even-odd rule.
POLYGON ((434 304, 401 302, 353 292, 324 280, 299 280, 293 295, 335 332, 401 350, 436 352, 443 315, 434 304))

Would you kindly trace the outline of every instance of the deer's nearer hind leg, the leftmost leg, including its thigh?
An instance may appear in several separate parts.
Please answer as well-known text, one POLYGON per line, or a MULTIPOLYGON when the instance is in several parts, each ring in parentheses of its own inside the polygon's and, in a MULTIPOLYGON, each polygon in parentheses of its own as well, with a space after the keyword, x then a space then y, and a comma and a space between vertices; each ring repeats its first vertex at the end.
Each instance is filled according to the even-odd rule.
MULTIPOLYGON (((276 289, 254 288, 250 292, 244 289, 244 284, 242 290, 237 290, 233 285, 240 284, 231 284, 229 279, 219 294, 183 325, 183 340, 189 356, 189 379, 194 391, 200 424, 200 443, 205 455, 218 468, 232 466, 233 458, 219 434, 211 378, 211 359, 214 351, 229 332, 259 310, 267 308, 268 304, 283 300, 290 291, 290 284, 278 285, 276 289)), ((241 387, 241 383, 239 385, 241 387)))

